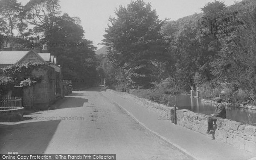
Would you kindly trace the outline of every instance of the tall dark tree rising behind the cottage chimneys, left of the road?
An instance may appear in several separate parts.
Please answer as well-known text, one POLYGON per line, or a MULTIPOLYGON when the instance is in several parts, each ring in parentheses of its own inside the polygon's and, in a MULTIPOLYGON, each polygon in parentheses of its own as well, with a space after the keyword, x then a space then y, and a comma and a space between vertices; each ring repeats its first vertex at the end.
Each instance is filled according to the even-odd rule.
POLYGON ((84 39, 79 17, 61 15, 59 0, 30 0, 24 6, 27 22, 33 35, 43 35, 41 44, 57 57, 64 79, 72 80, 73 87, 90 86, 97 79, 96 47, 84 39))

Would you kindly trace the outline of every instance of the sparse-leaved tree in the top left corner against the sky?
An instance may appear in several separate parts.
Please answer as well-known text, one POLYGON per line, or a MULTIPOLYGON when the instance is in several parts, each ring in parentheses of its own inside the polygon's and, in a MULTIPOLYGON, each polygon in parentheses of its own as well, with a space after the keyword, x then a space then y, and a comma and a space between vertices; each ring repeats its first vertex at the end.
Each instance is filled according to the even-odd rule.
MULTIPOLYGON (((0 0, 0 28, 6 35, 13 38, 13 30, 19 23, 22 6, 17 0, 0 0)), ((24 24, 23 24, 24 25, 24 24)), ((21 26, 21 24, 20 24, 21 26)))

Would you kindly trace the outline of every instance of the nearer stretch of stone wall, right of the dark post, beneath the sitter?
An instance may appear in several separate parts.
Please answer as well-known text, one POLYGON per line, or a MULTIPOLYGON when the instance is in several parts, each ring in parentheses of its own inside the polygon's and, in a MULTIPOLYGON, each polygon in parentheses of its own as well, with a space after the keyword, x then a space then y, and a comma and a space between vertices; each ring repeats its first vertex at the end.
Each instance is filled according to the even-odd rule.
POLYGON ((216 140, 256 154, 256 126, 230 119, 218 119, 215 134, 206 134, 209 116, 190 110, 177 110, 177 125, 214 137, 216 140))

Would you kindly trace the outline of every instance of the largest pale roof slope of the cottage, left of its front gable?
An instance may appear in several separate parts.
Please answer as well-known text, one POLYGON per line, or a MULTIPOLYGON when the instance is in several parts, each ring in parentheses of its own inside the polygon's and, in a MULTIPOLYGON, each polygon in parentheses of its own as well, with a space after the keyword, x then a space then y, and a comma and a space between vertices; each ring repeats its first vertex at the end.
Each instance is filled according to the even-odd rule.
POLYGON ((0 51, 0 64, 15 64, 29 51, 0 51))

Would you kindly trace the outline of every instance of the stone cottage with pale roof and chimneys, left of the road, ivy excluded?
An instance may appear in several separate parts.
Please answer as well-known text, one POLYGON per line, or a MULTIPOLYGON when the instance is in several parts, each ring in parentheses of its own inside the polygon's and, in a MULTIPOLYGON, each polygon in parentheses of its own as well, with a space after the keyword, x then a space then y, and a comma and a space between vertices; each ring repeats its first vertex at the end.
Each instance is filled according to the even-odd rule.
POLYGON ((38 62, 45 64, 39 70, 34 70, 31 76, 42 77, 35 86, 23 88, 23 106, 25 108, 47 109, 56 99, 63 97, 61 84, 61 67, 57 58, 49 52, 37 53, 29 51, 0 51, 0 68, 12 64, 38 62))

